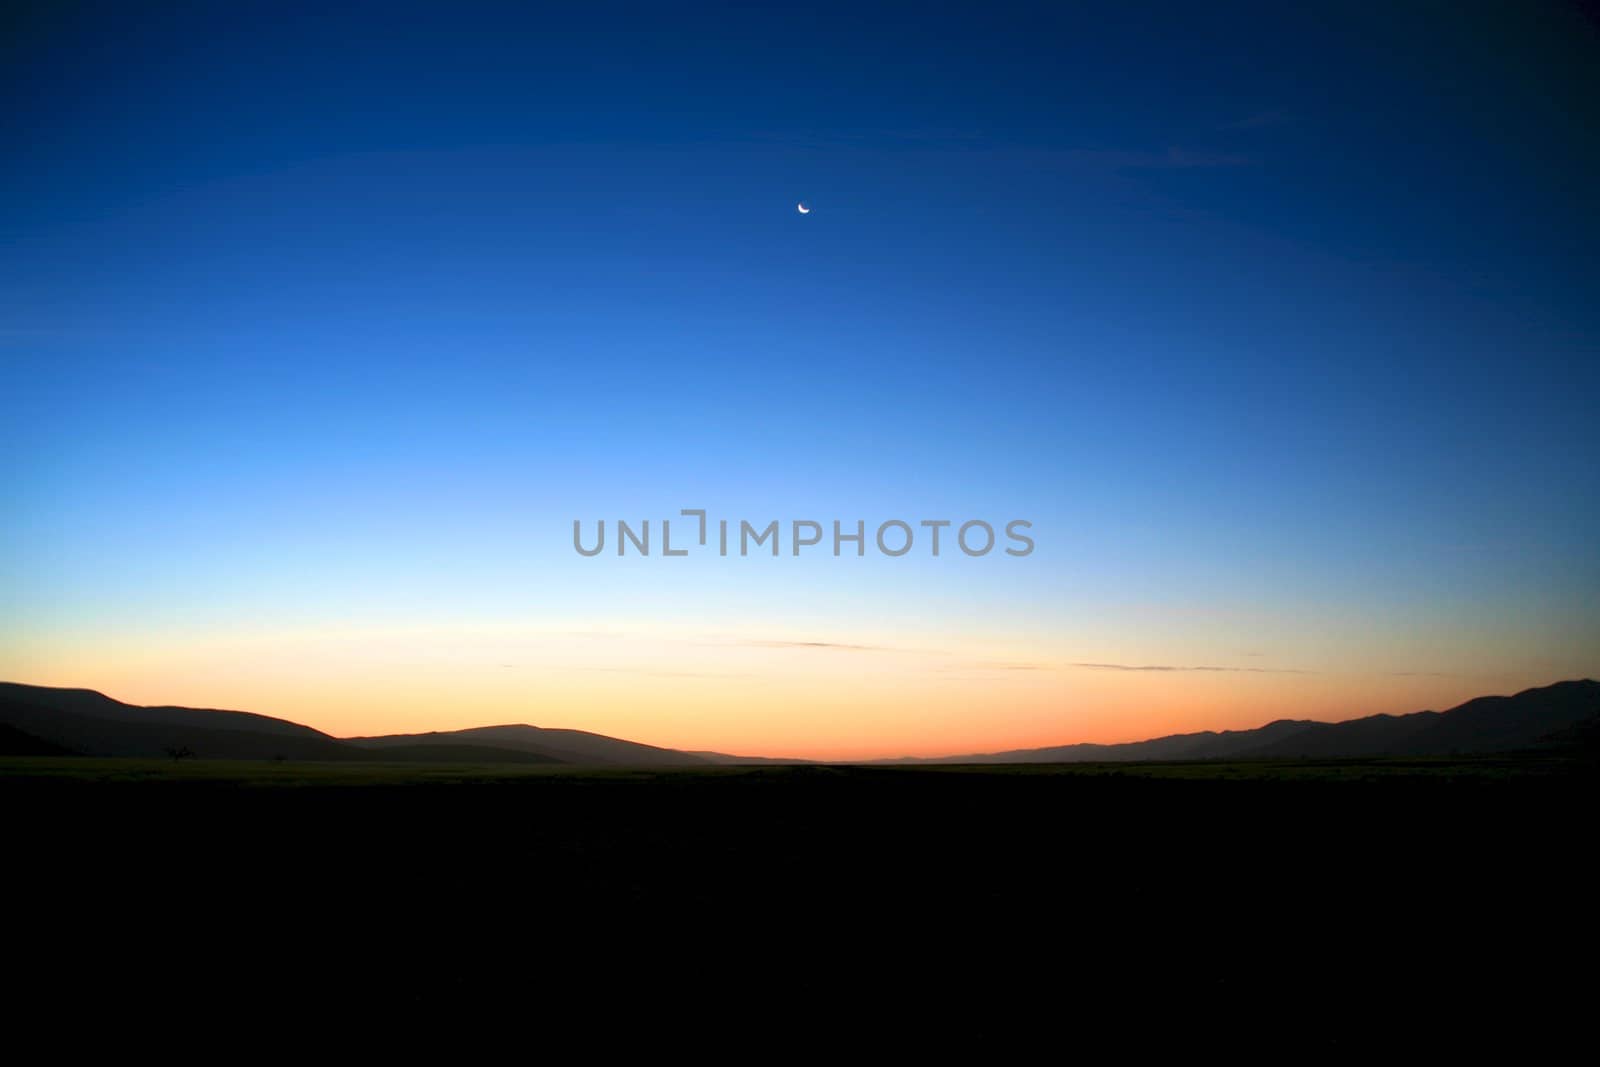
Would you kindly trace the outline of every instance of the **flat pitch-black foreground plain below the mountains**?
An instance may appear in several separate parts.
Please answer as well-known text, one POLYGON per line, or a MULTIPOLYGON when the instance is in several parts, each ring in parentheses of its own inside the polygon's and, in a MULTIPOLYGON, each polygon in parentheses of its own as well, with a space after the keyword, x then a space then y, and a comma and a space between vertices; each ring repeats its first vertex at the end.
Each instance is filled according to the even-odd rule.
POLYGON ((1595 1008, 1595 800, 1562 760, 14 758, 6 1003, 157 1035, 1534 1051, 1595 1008))

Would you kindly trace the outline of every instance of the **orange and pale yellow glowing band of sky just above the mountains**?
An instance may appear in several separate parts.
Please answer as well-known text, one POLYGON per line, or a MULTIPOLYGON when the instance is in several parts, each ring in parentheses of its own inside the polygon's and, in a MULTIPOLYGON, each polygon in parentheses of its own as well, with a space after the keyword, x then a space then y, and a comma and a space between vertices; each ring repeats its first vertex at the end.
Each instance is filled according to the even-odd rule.
POLYGON ((94 688, 130 704, 259 712, 341 737, 531 723, 819 760, 1115 744, 1274 718, 1338 721, 1558 680, 1248 661, 1205 670, 1112 665, 1037 649, 998 654, 971 640, 949 646, 973 651, 603 629, 318 630, 123 638, 96 649, 93 662, 34 646, 13 651, 0 677, 94 688))

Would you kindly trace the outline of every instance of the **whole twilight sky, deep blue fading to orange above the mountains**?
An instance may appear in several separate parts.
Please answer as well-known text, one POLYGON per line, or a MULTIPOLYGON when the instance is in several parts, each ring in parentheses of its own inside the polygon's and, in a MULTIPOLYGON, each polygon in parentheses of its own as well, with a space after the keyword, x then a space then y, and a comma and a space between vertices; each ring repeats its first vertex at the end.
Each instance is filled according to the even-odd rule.
POLYGON ((8 5, 0 678, 862 758, 1600 675, 1600 24, 1291 6, 8 5))

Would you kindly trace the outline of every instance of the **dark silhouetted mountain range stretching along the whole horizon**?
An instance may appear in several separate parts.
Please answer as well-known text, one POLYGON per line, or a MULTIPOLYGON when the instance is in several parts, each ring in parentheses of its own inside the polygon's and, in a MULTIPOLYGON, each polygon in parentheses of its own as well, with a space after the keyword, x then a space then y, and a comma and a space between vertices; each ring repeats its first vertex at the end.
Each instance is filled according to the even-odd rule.
MULTIPOLYGON (((1592 753, 1600 741, 1600 681, 1557 681, 1515 696, 1482 696, 1445 712, 1368 715, 1342 723, 1280 718, 1256 729, 1173 734, 1128 744, 1074 744, 872 763, 1085 763, 1128 760, 1272 760, 1448 757, 1496 752, 1592 753)), ((474 726, 424 734, 333 737, 283 718, 194 707, 139 707, 93 689, 0 681, 0 755, 211 760, 365 760, 714 766, 805 763, 680 752, 582 729, 474 726)))

